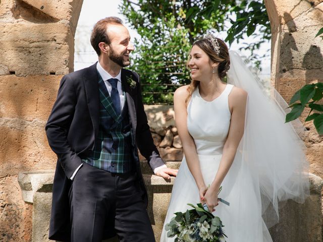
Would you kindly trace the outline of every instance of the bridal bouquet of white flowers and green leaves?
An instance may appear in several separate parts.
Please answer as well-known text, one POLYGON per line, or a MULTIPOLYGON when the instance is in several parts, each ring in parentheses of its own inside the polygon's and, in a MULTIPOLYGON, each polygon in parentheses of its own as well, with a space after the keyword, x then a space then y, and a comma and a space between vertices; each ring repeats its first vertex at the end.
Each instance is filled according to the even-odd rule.
MULTIPOLYGON (((221 191, 221 190, 220 190, 221 191)), ((223 199, 219 201, 229 205, 223 199)), ((174 237, 175 242, 225 242, 227 235, 224 233, 222 221, 219 217, 211 214, 206 206, 201 203, 194 206, 187 204, 193 209, 185 213, 177 212, 170 223, 166 224, 168 237, 174 237)))

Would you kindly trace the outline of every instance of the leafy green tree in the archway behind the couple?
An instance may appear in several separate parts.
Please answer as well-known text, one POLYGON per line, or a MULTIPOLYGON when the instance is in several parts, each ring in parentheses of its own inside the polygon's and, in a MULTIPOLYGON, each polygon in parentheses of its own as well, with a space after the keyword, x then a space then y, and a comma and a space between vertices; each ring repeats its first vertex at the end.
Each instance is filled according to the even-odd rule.
MULTIPOLYGON (((120 10, 141 36, 134 41, 132 68, 141 75, 147 104, 171 104, 177 85, 190 82, 188 53, 192 43, 206 32, 227 30, 226 41, 231 44, 242 40, 244 34, 254 35, 259 26, 260 41, 248 46, 241 43, 241 48, 252 53, 271 37, 262 0, 123 0, 120 10), (229 19, 234 15, 237 20, 229 19), (230 22, 232 27, 226 27, 230 22)), ((258 57, 252 54, 252 58, 258 57)))

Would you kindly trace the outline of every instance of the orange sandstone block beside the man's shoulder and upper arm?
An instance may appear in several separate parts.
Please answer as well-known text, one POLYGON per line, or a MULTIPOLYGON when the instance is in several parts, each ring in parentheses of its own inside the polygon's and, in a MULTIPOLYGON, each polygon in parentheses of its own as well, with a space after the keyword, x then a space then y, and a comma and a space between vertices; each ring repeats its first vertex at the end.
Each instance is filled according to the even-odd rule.
POLYGON ((56 75, 0 76, 0 117, 46 122, 61 78, 56 75))

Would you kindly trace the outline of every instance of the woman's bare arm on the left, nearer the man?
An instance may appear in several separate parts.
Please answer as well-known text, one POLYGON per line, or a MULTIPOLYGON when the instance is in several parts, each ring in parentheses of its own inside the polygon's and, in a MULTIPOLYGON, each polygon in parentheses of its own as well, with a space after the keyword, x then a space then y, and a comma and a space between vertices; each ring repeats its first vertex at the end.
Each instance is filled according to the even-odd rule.
POLYGON ((206 186, 200 169, 194 140, 187 130, 187 107, 185 103, 188 96, 187 87, 182 86, 174 93, 175 123, 182 141, 187 166, 195 179, 201 199, 201 196, 206 191, 206 186))

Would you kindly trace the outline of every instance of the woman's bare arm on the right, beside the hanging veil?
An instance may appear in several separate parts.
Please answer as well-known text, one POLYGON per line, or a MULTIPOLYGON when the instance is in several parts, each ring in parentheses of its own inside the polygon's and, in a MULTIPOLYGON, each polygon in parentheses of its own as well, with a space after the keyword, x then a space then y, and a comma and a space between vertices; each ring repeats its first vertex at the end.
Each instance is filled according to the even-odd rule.
POLYGON ((246 103, 246 91, 234 87, 229 95, 231 122, 227 141, 223 147, 223 154, 216 177, 214 177, 212 184, 205 194, 205 200, 209 211, 218 205, 219 188, 232 165, 240 140, 243 136, 246 103))

